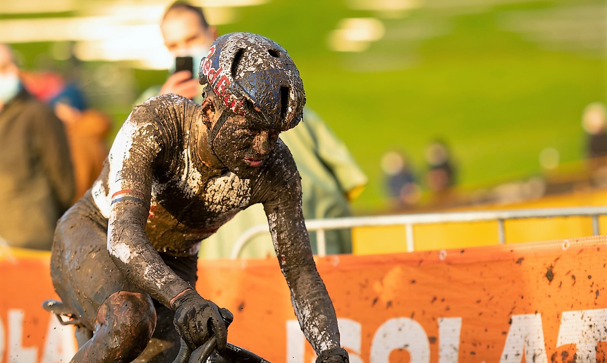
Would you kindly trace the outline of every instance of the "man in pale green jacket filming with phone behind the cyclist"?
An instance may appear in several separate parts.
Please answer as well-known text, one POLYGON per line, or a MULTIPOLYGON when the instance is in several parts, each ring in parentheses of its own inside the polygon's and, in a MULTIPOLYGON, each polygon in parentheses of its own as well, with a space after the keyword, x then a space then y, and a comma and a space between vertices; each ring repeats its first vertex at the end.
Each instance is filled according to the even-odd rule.
MULTIPOLYGON (((189 55, 194 58, 194 69, 208 54, 217 30, 209 26, 202 9, 188 2, 177 1, 169 5, 160 24, 164 45, 174 57, 189 55)), ((137 103, 158 94, 179 94, 197 100, 202 89, 198 75, 187 71, 169 76, 163 86, 149 88, 137 103)), ((350 215, 348 199, 355 198, 367 184, 367 176, 356 165, 347 147, 331 132, 327 125, 310 109, 304 110, 304 122, 280 138, 287 144, 302 176, 304 218, 334 218, 350 215)), ((214 235, 203 241, 200 257, 229 257, 234 243, 245 230, 268 220, 261 204, 238 213, 214 235)), ((327 253, 351 252, 350 230, 327 232, 327 253)), ((310 233, 314 252, 316 238, 310 233)), ((274 253, 270 233, 254 239, 241 257, 266 257, 274 253)))

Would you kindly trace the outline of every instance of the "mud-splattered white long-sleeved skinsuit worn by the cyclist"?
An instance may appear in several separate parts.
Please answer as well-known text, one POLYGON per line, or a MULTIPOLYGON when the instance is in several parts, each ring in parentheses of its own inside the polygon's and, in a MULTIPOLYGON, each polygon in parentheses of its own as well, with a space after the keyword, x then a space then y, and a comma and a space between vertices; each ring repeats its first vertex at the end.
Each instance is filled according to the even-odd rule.
POLYGON ((200 105, 175 95, 155 97, 131 113, 92 190, 59 221, 52 256, 56 291, 92 331, 102 299, 118 289, 107 286, 111 282, 98 286, 105 276, 112 280, 119 274, 114 280, 127 281, 120 289, 147 292, 170 306, 190 287, 184 278, 195 282, 169 268, 170 257, 189 261, 183 263, 195 274, 201 240, 260 202, 305 336, 317 353, 339 348, 337 320, 312 258, 290 152, 278 140, 262 166, 237 171, 242 178, 208 167, 197 147, 207 142, 203 117, 200 105), (97 240, 106 227, 104 251, 100 246, 105 241, 97 240), (100 258, 118 271, 111 264, 101 266, 96 262, 100 258), (91 288, 87 281, 97 286, 91 288))

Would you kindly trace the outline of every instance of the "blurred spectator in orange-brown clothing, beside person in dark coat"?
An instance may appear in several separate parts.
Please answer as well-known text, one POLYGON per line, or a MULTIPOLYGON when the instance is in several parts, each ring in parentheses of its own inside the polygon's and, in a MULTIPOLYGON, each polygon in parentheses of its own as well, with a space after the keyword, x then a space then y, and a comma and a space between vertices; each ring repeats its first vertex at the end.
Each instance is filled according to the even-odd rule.
POLYGON ((76 182, 73 201, 76 201, 101 172, 109 151, 106 137, 111 122, 102 112, 87 108, 84 95, 73 83, 53 97, 49 104, 66 128, 76 182))

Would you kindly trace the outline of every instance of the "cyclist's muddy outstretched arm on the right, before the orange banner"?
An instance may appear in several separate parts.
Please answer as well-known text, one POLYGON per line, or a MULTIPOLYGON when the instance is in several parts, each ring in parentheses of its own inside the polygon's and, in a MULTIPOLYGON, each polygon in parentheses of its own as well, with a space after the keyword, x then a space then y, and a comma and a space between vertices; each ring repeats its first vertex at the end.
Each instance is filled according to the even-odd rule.
MULTIPOLYGON (((320 354, 339 348, 339 330, 333 303, 312 257, 310 239, 301 209, 301 184, 293 159, 283 158, 284 168, 295 168, 275 201, 265 202, 268 224, 280 263, 291 291, 291 301, 304 335, 320 354), (287 159, 287 160, 285 160, 287 159)), ((290 175, 280 170, 279 175, 290 175)))

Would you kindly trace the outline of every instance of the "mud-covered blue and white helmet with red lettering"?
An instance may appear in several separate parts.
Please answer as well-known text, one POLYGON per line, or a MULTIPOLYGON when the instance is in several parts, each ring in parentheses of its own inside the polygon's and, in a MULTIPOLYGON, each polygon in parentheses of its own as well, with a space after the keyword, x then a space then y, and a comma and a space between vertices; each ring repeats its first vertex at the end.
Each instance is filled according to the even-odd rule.
POLYGON ((305 93, 299 71, 287 50, 265 36, 220 36, 200 62, 198 75, 222 106, 260 127, 286 131, 302 119, 305 93))

